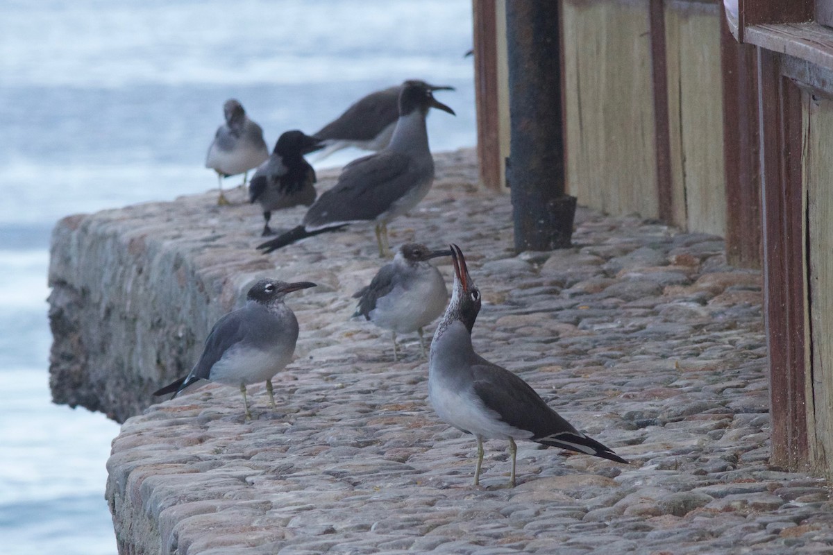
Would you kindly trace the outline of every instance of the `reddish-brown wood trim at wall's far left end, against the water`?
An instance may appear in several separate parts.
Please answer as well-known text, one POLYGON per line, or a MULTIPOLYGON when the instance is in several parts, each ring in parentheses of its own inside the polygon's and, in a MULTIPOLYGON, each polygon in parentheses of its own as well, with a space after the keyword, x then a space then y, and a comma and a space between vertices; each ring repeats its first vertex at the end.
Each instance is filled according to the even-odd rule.
POLYGON ((495 0, 473 0, 477 158, 486 187, 501 186, 501 143, 497 109, 497 22, 495 0))

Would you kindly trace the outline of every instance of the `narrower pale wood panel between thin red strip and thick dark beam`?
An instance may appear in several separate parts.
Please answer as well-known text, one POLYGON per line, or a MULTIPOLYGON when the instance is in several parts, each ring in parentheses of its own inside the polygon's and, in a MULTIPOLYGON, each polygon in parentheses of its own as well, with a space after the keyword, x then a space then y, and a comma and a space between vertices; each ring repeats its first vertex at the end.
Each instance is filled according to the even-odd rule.
POLYGON ((719 9, 666 2, 672 222, 726 234, 719 9))

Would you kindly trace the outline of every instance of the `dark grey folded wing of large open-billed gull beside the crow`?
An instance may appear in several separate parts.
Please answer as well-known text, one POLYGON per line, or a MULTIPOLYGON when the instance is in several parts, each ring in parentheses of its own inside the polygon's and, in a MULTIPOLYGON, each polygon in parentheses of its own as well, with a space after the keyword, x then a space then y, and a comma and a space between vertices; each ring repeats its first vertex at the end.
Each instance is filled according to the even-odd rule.
POLYGON ((344 166, 336 186, 325 191, 304 216, 303 225, 372 221, 414 185, 412 160, 401 152, 382 151, 344 166))

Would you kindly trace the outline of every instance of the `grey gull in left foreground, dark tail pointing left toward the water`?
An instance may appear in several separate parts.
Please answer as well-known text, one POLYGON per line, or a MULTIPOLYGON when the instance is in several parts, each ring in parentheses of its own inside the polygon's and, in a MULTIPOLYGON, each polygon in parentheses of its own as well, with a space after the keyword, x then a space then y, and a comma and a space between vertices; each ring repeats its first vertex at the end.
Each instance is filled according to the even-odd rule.
POLYGON ((154 395, 173 393, 176 397, 201 379, 236 385, 243 394, 246 418, 252 419, 246 386, 265 380, 274 409, 272 377, 292 361, 298 339, 298 320, 283 304, 283 298, 292 291, 315 286, 308 281, 278 280, 260 280, 252 285, 246 305, 217 320, 191 372, 154 395))

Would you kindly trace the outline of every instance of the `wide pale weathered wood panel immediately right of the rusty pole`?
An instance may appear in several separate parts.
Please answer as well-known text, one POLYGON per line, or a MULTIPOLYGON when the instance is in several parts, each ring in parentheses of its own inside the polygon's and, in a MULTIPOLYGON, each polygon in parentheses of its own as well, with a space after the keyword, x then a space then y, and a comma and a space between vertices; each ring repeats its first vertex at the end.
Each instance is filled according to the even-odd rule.
POLYGON ((564 0, 567 192, 659 216, 648 0, 564 0))

